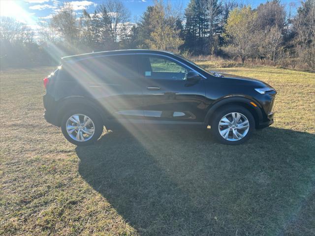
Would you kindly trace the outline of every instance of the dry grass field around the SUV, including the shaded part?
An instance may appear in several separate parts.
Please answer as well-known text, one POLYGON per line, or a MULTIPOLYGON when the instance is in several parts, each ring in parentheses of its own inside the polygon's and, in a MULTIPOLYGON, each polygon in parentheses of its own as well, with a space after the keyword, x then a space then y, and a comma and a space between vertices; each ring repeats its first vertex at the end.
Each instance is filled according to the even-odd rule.
POLYGON ((315 235, 315 74, 217 68, 278 91, 275 123, 242 146, 183 130, 79 148, 42 116, 52 70, 0 74, 0 235, 315 235))

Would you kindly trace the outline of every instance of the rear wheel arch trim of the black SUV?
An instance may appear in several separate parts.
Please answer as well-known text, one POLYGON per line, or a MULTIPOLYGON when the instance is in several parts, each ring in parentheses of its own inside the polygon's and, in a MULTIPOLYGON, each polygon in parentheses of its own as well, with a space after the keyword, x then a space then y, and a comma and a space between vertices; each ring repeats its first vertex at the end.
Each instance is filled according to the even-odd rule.
POLYGON ((84 108, 84 107, 94 110, 102 118, 103 124, 105 123, 106 114, 98 102, 93 101, 83 96, 71 96, 71 97, 63 98, 57 104, 57 109, 56 109, 57 125, 58 126, 61 125, 63 114, 67 110, 72 109, 72 108, 84 108))

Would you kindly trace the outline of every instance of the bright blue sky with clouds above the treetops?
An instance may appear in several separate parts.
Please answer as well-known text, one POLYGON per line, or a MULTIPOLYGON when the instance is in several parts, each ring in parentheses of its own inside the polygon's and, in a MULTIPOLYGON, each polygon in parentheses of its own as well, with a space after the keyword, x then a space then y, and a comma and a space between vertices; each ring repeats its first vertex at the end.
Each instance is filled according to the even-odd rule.
MULTIPOLYGON (((78 17, 82 14, 82 10, 86 9, 89 13, 94 12, 103 0, 67 0, 71 2, 73 9, 78 17)), ((141 15, 153 0, 122 0, 126 8, 130 11, 129 22, 140 20, 141 15)), ((164 0, 165 2, 167 0, 164 0)), ((190 0, 169 0, 173 5, 181 4, 183 9, 188 5, 190 0)), ((250 4, 252 8, 257 7, 266 0, 239 0, 241 3, 250 4)), ((64 0, 0 0, 0 16, 13 17, 18 21, 24 22, 32 29, 39 28, 39 21, 47 21, 56 14, 58 6, 63 5, 64 0)), ((289 11, 290 3, 293 3, 292 13, 296 12, 296 8, 300 5, 300 0, 281 0, 289 11)))

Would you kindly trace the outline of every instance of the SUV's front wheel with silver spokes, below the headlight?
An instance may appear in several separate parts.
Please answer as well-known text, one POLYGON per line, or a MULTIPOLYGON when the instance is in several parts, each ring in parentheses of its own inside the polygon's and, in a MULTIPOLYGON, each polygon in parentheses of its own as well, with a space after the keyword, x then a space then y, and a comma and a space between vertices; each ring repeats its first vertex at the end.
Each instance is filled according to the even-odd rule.
POLYGON ((228 105, 215 113, 210 125, 211 133, 218 142, 227 145, 239 145, 245 143, 251 137, 255 129, 255 120, 252 113, 246 108, 228 105), (233 123, 233 120, 238 120, 238 122, 233 123), (247 127, 246 121, 248 121, 249 127, 247 127), (220 122, 222 125, 219 126, 220 122))

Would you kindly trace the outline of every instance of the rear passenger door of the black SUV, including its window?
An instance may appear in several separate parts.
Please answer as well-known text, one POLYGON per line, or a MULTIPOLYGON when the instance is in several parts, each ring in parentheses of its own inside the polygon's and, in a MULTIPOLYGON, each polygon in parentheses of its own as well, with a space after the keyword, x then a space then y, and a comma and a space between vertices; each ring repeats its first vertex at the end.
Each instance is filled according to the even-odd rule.
MULTIPOLYGON (((89 59, 88 89, 106 111, 111 125, 143 124, 143 100, 135 55, 89 59)), ((105 124, 106 125, 106 124, 105 124)))

